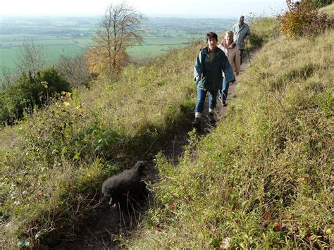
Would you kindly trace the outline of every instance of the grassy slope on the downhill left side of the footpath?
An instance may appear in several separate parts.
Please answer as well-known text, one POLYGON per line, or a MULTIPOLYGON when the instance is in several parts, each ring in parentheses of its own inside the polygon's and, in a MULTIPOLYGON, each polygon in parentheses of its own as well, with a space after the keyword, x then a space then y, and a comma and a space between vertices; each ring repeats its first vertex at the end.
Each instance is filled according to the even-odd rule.
POLYGON ((149 159, 171 131, 190 125, 195 94, 192 44, 130 65, 115 82, 65 94, 0 131, 1 242, 39 246, 85 218, 101 182, 149 159))

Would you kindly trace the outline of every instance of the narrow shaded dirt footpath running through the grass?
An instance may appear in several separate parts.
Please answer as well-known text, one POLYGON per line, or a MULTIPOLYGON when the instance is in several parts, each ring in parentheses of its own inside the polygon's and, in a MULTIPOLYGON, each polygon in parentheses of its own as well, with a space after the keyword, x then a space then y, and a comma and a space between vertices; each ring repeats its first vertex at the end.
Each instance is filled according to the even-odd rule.
MULTIPOLYGON (((247 58, 242 63, 242 73, 247 68, 249 60, 247 58)), ((237 81, 238 81, 237 77, 237 81)), ((228 89, 228 100, 233 99, 233 92, 236 84, 230 85, 228 89)), ((194 89, 195 91, 195 89, 194 89)), ((218 99, 218 98, 217 98, 218 99)), ((209 123, 208 118, 208 96, 204 104, 204 115, 201 121, 201 129, 198 135, 204 137, 214 130, 215 125, 209 123)), ((219 120, 225 115, 228 106, 223 106, 221 101, 217 101, 216 120, 219 120)), ((191 121, 186 121, 189 124, 182 126, 182 129, 175 131, 173 139, 166 142, 163 148, 163 154, 174 165, 178 164, 178 159, 183 154, 183 147, 188 144, 188 132, 192 130, 191 121)), ((154 167, 153 162, 149 162, 149 170, 147 172, 147 180, 154 182, 158 179, 158 170, 154 167)), ((140 211, 129 211, 122 213, 118 208, 112 208, 107 201, 101 201, 91 211, 86 219, 85 224, 80 225, 78 230, 75 230, 70 237, 67 237, 60 244, 52 249, 120 249, 123 239, 128 239, 131 232, 137 228, 144 214, 145 208, 140 211)))

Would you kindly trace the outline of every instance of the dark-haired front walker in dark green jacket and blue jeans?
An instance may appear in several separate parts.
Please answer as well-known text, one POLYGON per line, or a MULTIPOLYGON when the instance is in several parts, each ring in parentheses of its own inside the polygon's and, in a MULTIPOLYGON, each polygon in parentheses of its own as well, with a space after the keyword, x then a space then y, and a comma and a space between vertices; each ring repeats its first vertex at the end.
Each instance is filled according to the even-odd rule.
POLYGON ((217 93, 221 89, 223 81, 222 71, 225 73, 227 82, 235 82, 233 70, 224 52, 216 44, 218 36, 214 32, 206 34, 208 46, 199 51, 194 63, 194 80, 197 85, 197 103, 195 107, 195 120, 192 125, 199 128, 206 92, 209 91, 209 121, 215 122, 214 109, 217 103, 217 93))

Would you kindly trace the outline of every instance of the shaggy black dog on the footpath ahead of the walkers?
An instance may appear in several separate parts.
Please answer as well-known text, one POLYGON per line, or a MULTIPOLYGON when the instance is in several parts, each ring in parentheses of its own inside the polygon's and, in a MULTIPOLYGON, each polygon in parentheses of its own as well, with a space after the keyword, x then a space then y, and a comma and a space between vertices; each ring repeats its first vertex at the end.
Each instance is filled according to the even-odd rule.
POLYGON ((120 208, 128 208, 138 204, 147 195, 146 184, 143 180, 146 161, 138 161, 132 168, 113 175, 103 182, 102 194, 109 199, 109 204, 120 208))

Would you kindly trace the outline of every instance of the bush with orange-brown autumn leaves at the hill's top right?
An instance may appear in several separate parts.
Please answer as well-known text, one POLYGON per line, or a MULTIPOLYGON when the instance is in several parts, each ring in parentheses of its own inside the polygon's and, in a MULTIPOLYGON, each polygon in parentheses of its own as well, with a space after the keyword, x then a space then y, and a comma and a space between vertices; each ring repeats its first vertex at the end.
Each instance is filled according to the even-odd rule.
POLYGON ((277 18, 281 23, 280 31, 290 39, 310 37, 333 27, 333 18, 319 13, 317 8, 292 0, 286 0, 286 4, 288 10, 277 18))

